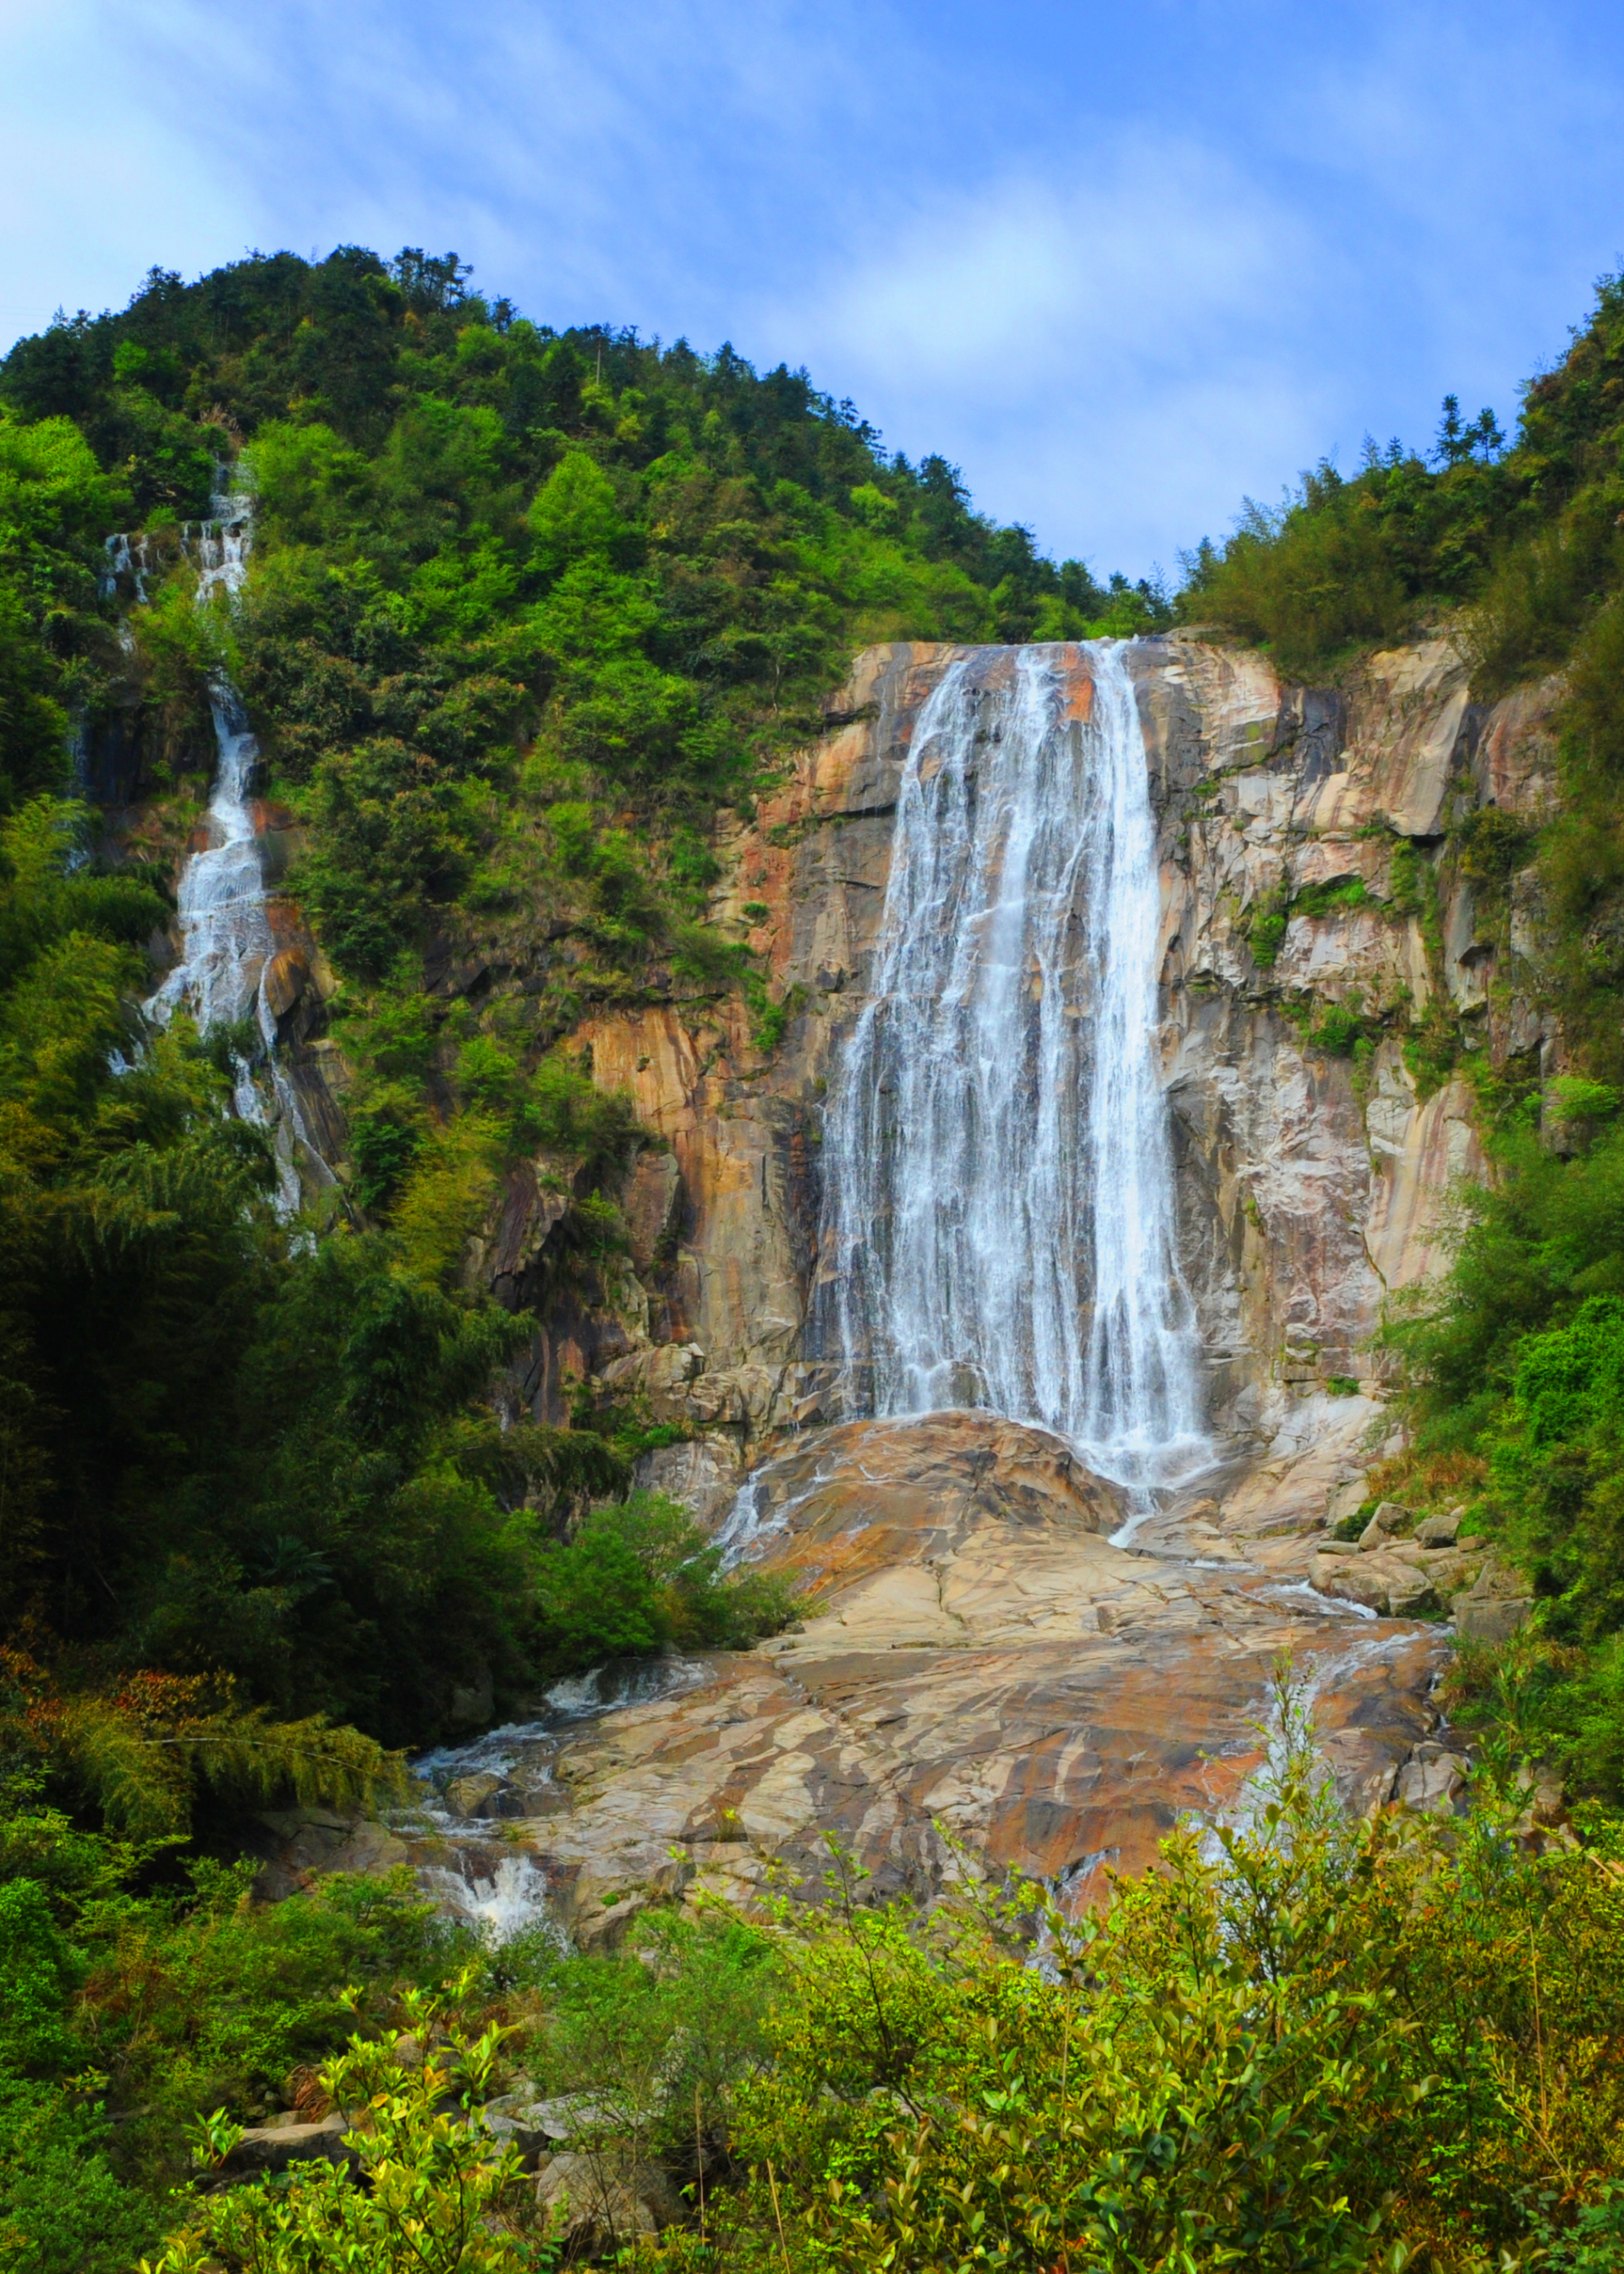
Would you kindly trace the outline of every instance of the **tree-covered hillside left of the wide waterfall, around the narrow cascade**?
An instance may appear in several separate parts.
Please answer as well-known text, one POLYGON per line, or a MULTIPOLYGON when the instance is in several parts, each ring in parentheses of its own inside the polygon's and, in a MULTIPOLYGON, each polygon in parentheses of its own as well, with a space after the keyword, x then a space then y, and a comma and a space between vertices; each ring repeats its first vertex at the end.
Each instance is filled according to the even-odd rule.
POLYGON ((641 1137, 560 1035, 673 989, 771 1019, 705 923, 707 825, 855 646, 1158 603, 1055 568, 805 375, 539 330, 421 252, 152 275, 25 339, 0 480, 9 1601, 75 1683, 141 1665, 425 1740, 457 1683, 557 1665, 548 1510, 623 1480, 589 1433, 496 1430, 480 1401, 525 1326, 457 1285, 516 1155, 555 1162, 580 1251, 616 1237, 641 1137), (207 612, 182 530, 225 462, 252 578, 207 612), (141 605, 102 575, 125 525, 141 605), (314 1251, 227 1112, 257 1035, 141 1046, 134 1010, 218 669, 305 823, 357 1069, 353 1207, 314 1251), (71 732, 121 844, 66 796, 71 732), (505 973, 478 1012, 425 991, 448 941, 505 973))

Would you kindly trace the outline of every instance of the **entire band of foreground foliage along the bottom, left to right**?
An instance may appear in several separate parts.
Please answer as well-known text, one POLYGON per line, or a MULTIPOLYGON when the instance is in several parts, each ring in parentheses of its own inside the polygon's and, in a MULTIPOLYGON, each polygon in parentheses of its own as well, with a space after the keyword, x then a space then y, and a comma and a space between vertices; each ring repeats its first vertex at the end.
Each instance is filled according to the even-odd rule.
POLYGON ((655 2265, 1467 2274, 1538 2247, 1592 2274, 1624 2176, 1617 1824, 1513 1837, 1510 1760, 1465 1819, 1353 1821, 1290 1669, 1269 1762, 1237 1819, 1180 1828, 1083 1919, 969 1858, 946 1899, 885 1901, 837 1846, 823 1887, 760 1924, 653 1908, 612 1956, 548 1935, 471 1953, 364 1881, 266 1910, 223 1867, 66 1931, 14 1901, 2 1947, 73 2040, 59 2058, 139 2110, 121 2178, 102 2119, 55 2083, 7 2088, 34 2149, 9 2133, 0 2153, 20 2263, 111 2274, 107 2233, 127 2265, 187 2128, 218 2165, 293 2090, 350 2117, 362 2183, 303 2165, 193 2194, 168 2210, 168 2274, 548 2263, 512 2149, 469 2122, 516 2078, 578 2094, 605 2172, 657 2156, 685 2185, 687 2224, 639 2244, 655 2265))

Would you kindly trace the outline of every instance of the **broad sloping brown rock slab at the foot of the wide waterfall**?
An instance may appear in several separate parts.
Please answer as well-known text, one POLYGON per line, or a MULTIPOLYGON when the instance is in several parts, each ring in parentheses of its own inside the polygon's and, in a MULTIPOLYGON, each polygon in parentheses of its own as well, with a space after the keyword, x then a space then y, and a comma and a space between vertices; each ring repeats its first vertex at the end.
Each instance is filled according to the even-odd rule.
POLYGON ((807 1433, 760 1474, 751 1546, 812 1594, 805 1624, 557 1731, 546 1774, 512 1774, 535 1812, 480 1790, 480 1821, 503 1815, 589 1944, 651 1899, 748 1903, 776 1869, 817 1887, 826 1833, 880 1892, 928 1894, 960 1840, 1083 1906, 1185 1810, 1237 1803, 1283 1649, 1340 1790, 1385 1801, 1433 1733, 1444 1644, 1303 1585, 1326 1464, 1372 1419, 1349 1403, 1267 1492, 1126 1546, 1112 1489, 1044 1430, 948 1412, 807 1433))

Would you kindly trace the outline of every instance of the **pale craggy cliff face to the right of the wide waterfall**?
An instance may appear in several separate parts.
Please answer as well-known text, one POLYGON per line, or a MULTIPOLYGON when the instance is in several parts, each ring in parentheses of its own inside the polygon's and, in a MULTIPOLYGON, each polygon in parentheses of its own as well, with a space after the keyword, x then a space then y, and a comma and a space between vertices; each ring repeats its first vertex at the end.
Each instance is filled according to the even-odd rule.
POLYGON ((1547 1041, 1515 926, 1474 907, 1442 839, 1474 805, 1542 810, 1553 689, 1474 707, 1447 641, 1367 659, 1335 698, 1194 639, 1135 669, 1185 1269, 1219 1414, 1271 1426, 1281 1392, 1372 1369, 1383 1296, 1437 1267, 1447 1189, 1483 1173, 1467 1085, 1419 1096, 1381 1014, 1444 1003, 1497 1062, 1547 1041))

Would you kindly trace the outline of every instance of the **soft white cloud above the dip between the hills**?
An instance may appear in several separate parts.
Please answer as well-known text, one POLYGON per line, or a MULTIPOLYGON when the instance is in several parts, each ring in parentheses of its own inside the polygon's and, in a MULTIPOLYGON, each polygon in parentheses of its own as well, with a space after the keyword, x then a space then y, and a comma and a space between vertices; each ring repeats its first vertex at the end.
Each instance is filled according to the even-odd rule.
POLYGON ((1064 184, 942 198, 760 330, 810 339, 892 443, 955 457, 999 514, 1101 566, 1171 568, 1228 523, 1244 468, 1317 455, 1315 250, 1224 159, 1128 134, 1064 184))

